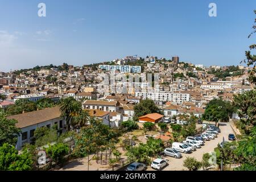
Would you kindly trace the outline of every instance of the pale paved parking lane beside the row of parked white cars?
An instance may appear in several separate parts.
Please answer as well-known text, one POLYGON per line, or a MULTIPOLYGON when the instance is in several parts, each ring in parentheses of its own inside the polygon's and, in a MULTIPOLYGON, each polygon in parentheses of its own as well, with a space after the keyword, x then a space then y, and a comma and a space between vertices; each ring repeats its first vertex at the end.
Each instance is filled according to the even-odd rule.
MULTIPOLYGON (((181 171, 181 170, 187 170, 187 168, 185 168, 183 166, 183 161, 186 159, 186 156, 190 156, 190 157, 194 157, 197 160, 201 161, 203 158, 203 155, 205 153, 208 152, 212 152, 214 150, 214 148, 217 147, 217 144, 222 142, 223 137, 225 140, 228 140, 228 135, 230 133, 234 133, 232 127, 230 126, 231 123, 220 123, 220 129, 221 129, 221 133, 218 134, 218 137, 213 139, 213 140, 209 140, 205 142, 204 146, 201 146, 201 148, 197 148, 196 151, 193 151, 191 154, 184 154, 181 153, 183 158, 181 159, 175 159, 169 156, 166 156, 165 159, 168 159, 168 166, 163 168, 163 171, 181 171)), ((147 168, 147 171, 154 171, 155 169, 152 169, 151 167, 147 168)))

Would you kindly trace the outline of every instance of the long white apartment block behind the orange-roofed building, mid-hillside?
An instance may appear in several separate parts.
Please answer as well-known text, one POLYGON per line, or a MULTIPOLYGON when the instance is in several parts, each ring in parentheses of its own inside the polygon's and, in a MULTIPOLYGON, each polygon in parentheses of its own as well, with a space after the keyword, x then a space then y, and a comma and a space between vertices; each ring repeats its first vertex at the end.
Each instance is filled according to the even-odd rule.
POLYGON ((136 97, 141 97, 143 100, 146 98, 153 101, 170 101, 182 104, 183 102, 189 102, 191 96, 185 92, 135 92, 136 97))

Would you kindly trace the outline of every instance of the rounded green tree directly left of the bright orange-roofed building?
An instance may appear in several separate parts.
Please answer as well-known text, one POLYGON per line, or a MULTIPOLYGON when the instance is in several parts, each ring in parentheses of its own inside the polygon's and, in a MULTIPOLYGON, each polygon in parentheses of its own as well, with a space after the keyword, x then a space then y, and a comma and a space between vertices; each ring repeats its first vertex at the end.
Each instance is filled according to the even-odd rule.
POLYGON ((148 100, 148 99, 142 100, 141 102, 139 102, 139 104, 135 105, 134 113, 135 113, 136 119, 138 119, 143 115, 151 114, 151 113, 162 114, 160 109, 155 105, 154 101, 148 100))

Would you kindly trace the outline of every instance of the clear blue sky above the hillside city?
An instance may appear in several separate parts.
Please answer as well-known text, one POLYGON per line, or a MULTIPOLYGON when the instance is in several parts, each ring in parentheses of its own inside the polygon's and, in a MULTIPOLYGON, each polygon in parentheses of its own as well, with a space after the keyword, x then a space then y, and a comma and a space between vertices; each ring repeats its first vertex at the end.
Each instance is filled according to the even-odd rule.
POLYGON ((255 0, 0 0, 0 71, 129 55, 238 65, 255 43, 255 0), (46 17, 38 4, 46 3, 46 17), (209 3, 217 17, 208 15, 209 3))

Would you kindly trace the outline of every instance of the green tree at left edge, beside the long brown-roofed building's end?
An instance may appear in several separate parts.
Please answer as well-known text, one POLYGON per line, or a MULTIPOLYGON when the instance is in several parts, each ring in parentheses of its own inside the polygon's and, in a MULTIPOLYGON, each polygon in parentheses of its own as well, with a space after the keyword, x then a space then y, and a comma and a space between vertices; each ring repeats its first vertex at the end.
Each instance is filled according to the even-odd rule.
POLYGON ((20 129, 16 127, 15 119, 7 119, 6 113, 0 110, 0 146, 3 143, 9 143, 16 145, 18 135, 20 135, 20 129))

